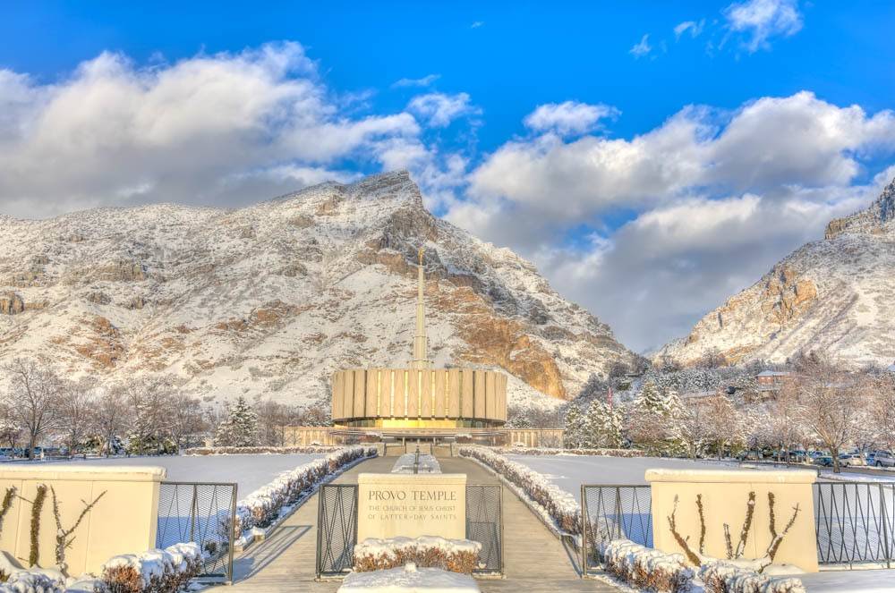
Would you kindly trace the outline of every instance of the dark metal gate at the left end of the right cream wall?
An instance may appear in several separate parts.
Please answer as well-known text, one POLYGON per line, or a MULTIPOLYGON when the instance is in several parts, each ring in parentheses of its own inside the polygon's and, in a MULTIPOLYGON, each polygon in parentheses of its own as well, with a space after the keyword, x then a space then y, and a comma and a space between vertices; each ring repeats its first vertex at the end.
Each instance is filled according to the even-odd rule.
POLYGON ((581 487, 582 575, 601 570, 602 546, 627 538, 652 547, 652 495, 649 486, 590 485, 581 487))

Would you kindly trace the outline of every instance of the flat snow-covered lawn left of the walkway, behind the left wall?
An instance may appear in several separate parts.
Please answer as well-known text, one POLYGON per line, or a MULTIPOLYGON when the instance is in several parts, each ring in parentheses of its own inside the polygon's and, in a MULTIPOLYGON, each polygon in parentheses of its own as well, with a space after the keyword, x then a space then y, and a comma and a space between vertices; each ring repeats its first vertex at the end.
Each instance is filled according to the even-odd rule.
POLYGON ((43 462, 42 465, 158 465, 167 470, 166 479, 174 482, 236 482, 242 498, 273 481, 282 471, 294 470, 303 463, 320 459, 317 453, 277 453, 269 455, 197 455, 158 457, 115 457, 111 459, 43 462))

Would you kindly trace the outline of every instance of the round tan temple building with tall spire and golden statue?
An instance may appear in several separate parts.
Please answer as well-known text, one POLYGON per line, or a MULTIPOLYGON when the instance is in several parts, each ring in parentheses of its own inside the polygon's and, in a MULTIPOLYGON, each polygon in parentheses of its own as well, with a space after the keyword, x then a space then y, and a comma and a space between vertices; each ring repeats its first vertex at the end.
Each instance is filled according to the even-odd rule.
MULTIPOLYGON (((333 427, 284 427, 286 445, 371 440, 475 441, 535 445, 542 432, 502 428, 507 421, 507 376, 497 370, 434 369, 428 357, 419 251, 413 357, 403 368, 341 369, 332 377, 333 427)), ((561 431, 551 431, 560 432, 561 431)), ((561 437, 561 436, 560 436, 561 437)))

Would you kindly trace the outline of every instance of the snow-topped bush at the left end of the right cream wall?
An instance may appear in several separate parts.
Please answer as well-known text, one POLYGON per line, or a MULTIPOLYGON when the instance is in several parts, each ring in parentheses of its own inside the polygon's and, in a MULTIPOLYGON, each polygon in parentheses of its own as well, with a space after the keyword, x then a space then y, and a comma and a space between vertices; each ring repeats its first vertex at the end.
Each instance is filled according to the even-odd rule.
POLYGON ((613 539, 603 547, 606 572, 639 589, 684 593, 693 585, 693 570, 682 554, 667 554, 635 544, 630 539, 613 539))

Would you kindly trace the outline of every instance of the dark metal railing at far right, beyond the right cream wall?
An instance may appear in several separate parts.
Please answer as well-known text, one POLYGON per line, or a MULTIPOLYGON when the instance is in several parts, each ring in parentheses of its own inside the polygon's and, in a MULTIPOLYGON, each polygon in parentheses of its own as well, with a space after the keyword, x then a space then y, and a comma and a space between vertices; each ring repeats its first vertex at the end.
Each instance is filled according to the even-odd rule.
POLYGON ((895 484, 816 483, 814 521, 818 563, 895 563, 895 484))

